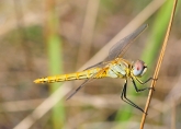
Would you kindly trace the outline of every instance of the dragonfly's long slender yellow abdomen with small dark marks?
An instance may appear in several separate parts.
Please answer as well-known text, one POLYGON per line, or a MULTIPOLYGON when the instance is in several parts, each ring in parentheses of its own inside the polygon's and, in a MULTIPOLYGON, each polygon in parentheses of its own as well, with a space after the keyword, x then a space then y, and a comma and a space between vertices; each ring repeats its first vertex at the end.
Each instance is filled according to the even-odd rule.
MULTIPOLYGON (((93 68, 93 69, 86 70, 82 72, 41 78, 41 79, 35 80, 34 82, 35 83, 53 83, 53 82, 64 82, 64 81, 72 81, 72 80, 84 80, 84 79, 91 78, 93 74, 98 73, 99 71, 100 71, 100 68, 93 68)), ((100 79, 100 78, 106 77, 105 73, 95 75, 93 78, 100 79)))

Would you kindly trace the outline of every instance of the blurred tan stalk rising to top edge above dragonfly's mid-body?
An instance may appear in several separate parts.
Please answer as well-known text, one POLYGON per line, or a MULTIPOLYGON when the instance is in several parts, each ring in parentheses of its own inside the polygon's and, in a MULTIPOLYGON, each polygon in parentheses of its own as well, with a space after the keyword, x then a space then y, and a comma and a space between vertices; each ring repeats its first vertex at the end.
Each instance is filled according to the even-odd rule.
POLYGON ((80 38, 80 46, 77 58, 78 69, 90 57, 94 25, 97 21, 100 0, 88 0, 84 22, 80 38), (86 51, 86 52, 84 52, 86 51))

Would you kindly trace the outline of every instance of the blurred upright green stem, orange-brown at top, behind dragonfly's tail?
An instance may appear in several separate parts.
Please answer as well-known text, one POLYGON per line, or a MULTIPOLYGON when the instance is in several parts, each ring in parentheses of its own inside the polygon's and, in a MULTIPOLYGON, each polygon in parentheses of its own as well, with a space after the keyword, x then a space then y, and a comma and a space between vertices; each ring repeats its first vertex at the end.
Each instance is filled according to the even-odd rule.
MULTIPOLYGON (((46 38, 47 38, 47 52, 49 61, 49 73, 59 74, 63 71, 61 59, 61 40, 58 36, 58 16, 55 12, 55 1, 47 0, 47 24, 46 24, 46 38)), ((53 83, 49 85, 50 94, 54 93, 58 87, 59 83, 53 83)), ((65 109, 64 102, 60 101, 52 110, 52 121, 54 129, 60 129, 64 126, 65 120, 65 109)))

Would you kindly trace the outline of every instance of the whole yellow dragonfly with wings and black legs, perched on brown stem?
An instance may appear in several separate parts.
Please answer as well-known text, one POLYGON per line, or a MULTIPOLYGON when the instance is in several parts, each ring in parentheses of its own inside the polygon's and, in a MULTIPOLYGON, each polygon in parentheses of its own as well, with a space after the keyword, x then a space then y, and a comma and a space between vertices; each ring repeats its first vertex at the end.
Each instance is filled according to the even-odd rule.
MULTIPOLYGON (((156 80, 149 78, 146 81, 142 81, 140 78, 147 71, 147 64, 143 60, 129 61, 123 58, 125 51, 135 42, 135 39, 148 27, 147 24, 142 25, 136 31, 117 42, 113 45, 109 51, 109 56, 101 62, 95 63, 83 71, 73 72, 68 74, 59 74, 54 77, 46 77, 36 79, 35 83, 54 83, 64 82, 72 80, 86 80, 80 86, 78 86, 68 97, 71 98, 80 89, 82 89, 88 82, 94 79, 102 78, 120 78, 124 79, 123 90, 121 92, 121 98, 133 107, 145 113, 139 106, 133 103, 126 96, 127 91, 127 80, 129 79, 135 87, 136 92, 143 92, 145 90, 154 90, 152 87, 138 89, 136 82, 139 84, 145 84, 150 80, 156 80)), ((145 113, 146 114, 146 113, 145 113)))

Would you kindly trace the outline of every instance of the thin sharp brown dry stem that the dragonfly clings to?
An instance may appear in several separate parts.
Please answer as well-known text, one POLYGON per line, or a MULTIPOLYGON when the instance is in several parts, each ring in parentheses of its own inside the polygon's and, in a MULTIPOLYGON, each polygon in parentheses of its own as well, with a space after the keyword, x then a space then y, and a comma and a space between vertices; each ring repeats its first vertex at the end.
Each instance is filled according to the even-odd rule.
MULTIPOLYGON (((172 9, 172 12, 171 12, 170 22, 169 22, 169 25, 168 25, 168 28, 167 28, 166 37, 165 37, 162 48, 161 48, 161 51, 160 51, 160 56, 158 58, 157 67, 156 67, 155 73, 154 73, 154 79, 158 79, 158 73, 159 73, 161 62, 162 62, 162 59, 163 59, 163 56, 165 56, 167 42, 168 42, 169 34, 170 34, 170 31, 171 31, 171 25, 172 25, 172 22, 173 22, 173 16, 174 16, 174 12, 176 12, 177 2, 178 2, 178 0, 174 0, 174 2, 173 2, 173 9, 172 9)), ((152 80, 151 87, 155 87, 155 85, 156 85, 156 80, 152 80)), ((148 112, 148 107, 149 107, 149 104, 150 104, 151 96, 152 96, 152 90, 149 91, 149 95, 148 95, 147 103, 146 103, 146 106, 145 106, 145 113, 148 112)), ((142 118, 142 122, 140 122, 140 129, 144 128, 145 119, 146 119, 146 114, 143 114, 143 118, 142 118)))

